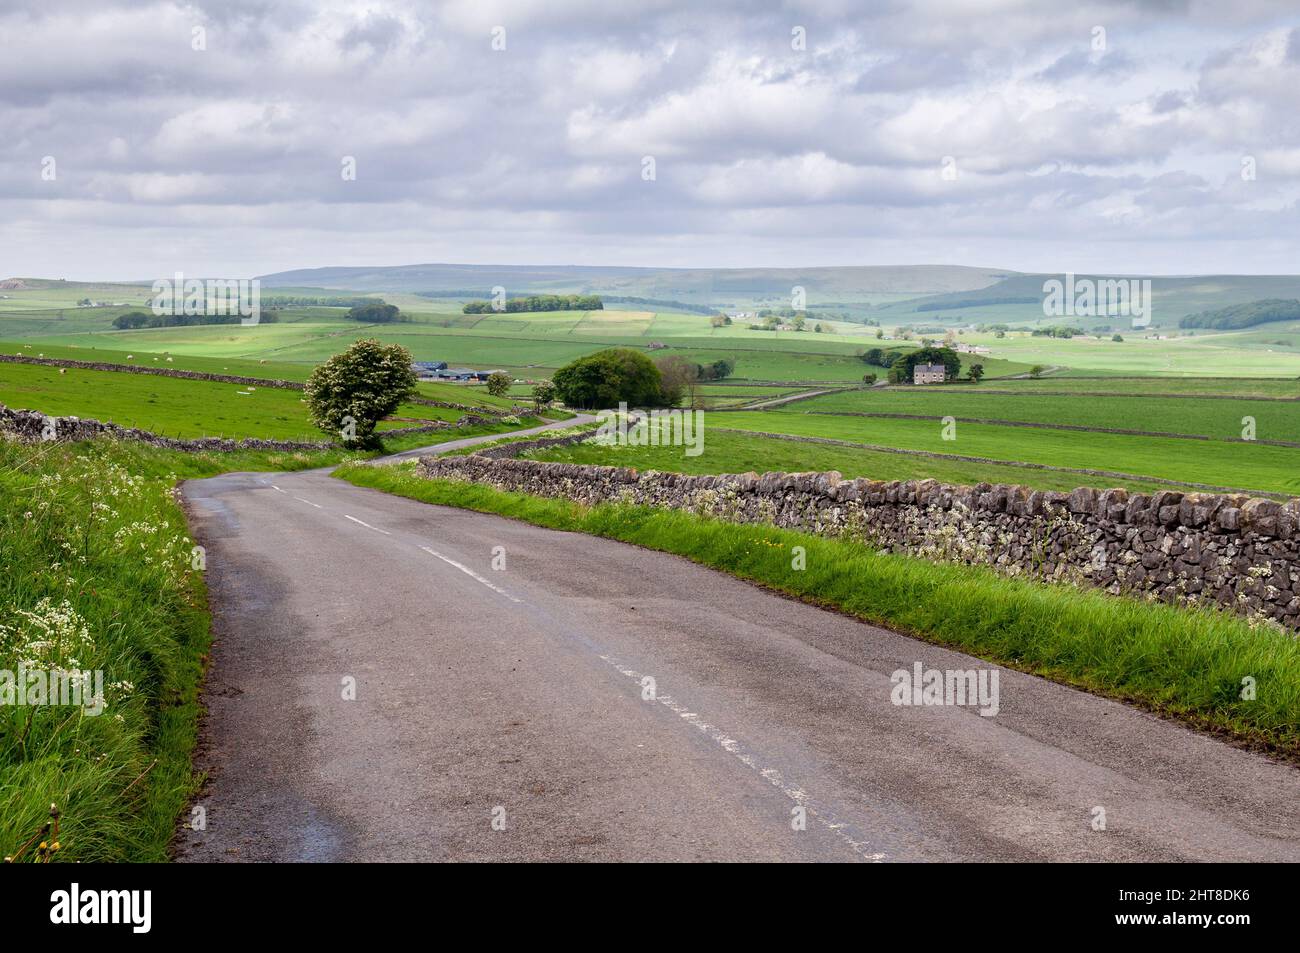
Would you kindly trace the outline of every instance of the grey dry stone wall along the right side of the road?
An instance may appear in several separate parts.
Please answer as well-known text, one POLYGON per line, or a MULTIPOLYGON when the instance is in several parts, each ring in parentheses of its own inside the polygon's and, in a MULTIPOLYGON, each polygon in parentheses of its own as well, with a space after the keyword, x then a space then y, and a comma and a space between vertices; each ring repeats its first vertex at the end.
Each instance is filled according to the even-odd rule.
POLYGON ((1300 499, 881 482, 835 471, 685 476, 482 454, 421 458, 419 473, 586 504, 774 524, 1013 576, 1217 603, 1300 628, 1300 499))

